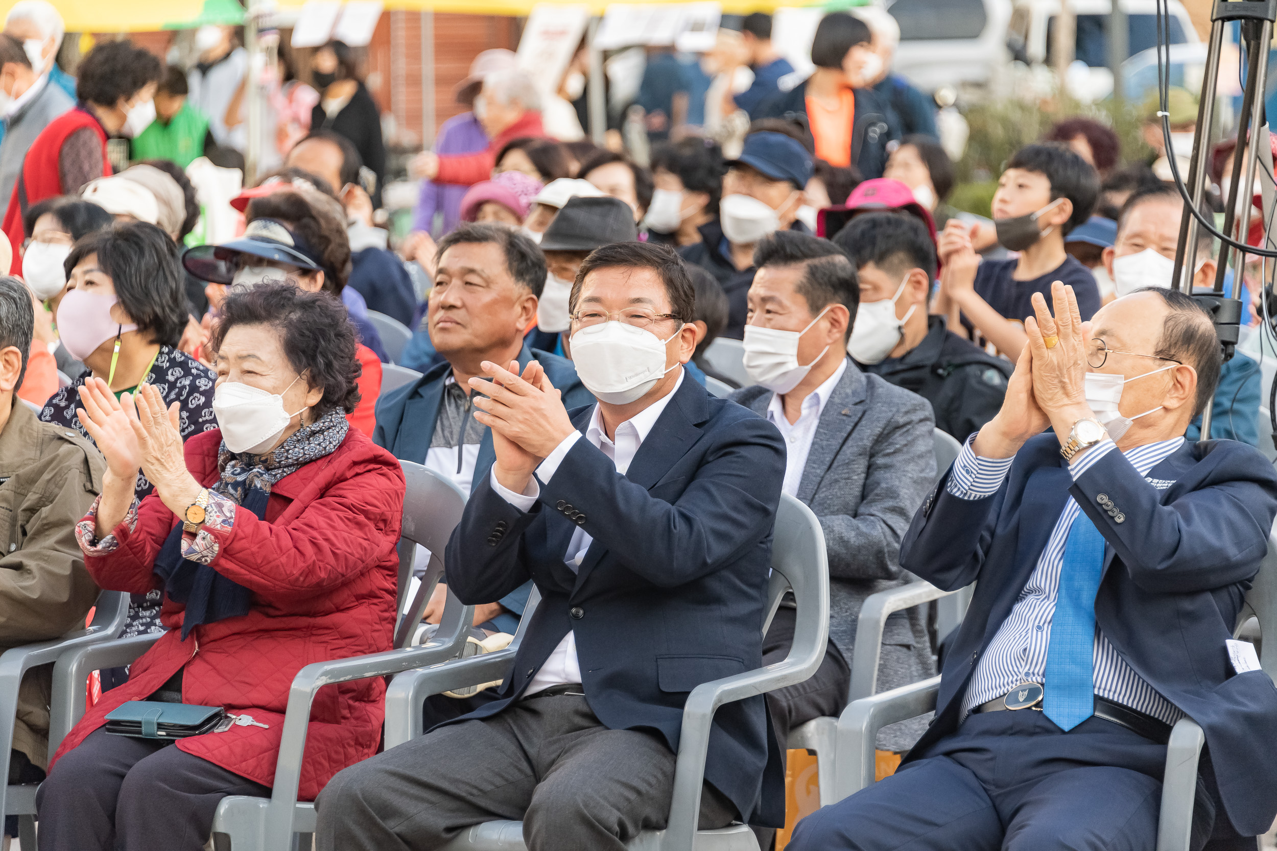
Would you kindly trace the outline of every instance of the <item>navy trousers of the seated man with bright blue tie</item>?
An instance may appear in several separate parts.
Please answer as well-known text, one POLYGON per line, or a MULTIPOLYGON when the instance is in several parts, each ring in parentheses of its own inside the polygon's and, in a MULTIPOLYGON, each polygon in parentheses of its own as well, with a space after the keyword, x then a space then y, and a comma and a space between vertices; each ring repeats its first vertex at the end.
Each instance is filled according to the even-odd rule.
MULTIPOLYGON (((1062 732, 1036 711, 973 714, 894 776, 799 822, 789 848, 1153 851, 1165 766, 1165 745, 1102 718, 1062 732)), ((1197 799, 1202 848, 1216 820, 1202 780, 1197 799)))

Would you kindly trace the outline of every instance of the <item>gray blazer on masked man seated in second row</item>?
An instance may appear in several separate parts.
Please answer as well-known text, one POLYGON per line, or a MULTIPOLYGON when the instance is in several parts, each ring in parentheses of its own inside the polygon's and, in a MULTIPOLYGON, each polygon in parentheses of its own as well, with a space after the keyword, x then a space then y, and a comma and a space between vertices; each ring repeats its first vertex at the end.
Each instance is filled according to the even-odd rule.
MULTIPOLYGON (((766 416, 771 390, 747 387, 732 394, 766 416)), ((931 404, 877 375, 847 365, 820 415, 820 425, 798 484, 825 531, 829 552, 829 637, 852 661, 856 623, 866 597, 916 577, 900 569, 900 538, 936 476, 931 404)), ((877 690, 935 676, 926 610, 888 619, 877 690)), ((907 750, 925 722, 886 727, 879 748, 907 750)))

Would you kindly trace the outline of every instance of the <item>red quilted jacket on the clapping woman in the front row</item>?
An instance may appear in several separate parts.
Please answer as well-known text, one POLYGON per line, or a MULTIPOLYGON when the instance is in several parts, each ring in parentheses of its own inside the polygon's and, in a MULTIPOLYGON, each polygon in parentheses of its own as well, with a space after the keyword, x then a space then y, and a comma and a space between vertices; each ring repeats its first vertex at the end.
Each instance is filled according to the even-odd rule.
MULTIPOLYGON (((186 467, 211 486, 218 478, 221 431, 186 441, 186 467)), ((391 453, 356 429, 332 454, 281 478, 266 521, 240 508, 229 533, 217 532, 212 566, 253 591, 253 609, 195 626, 181 640, 184 606, 165 597, 169 632, 133 663, 129 681, 102 699, 63 741, 57 759, 105 723, 125 700, 143 700, 185 669, 183 702, 249 713, 269 729, 232 726, 178 743, 243 777, 271 786, 289 686, 312 662, 391 649, 404 512, 404 473, 391 453)), ((137 528, 116 528, 120 547, 86 558, 98 586, 146 592, 152 564, 178 518, 156 495, 139 509, 137 528)), ((300 800, 314 800, 342 768, 377 753, 384 717, 381 677, 322 688, 310 709, 300 800)))

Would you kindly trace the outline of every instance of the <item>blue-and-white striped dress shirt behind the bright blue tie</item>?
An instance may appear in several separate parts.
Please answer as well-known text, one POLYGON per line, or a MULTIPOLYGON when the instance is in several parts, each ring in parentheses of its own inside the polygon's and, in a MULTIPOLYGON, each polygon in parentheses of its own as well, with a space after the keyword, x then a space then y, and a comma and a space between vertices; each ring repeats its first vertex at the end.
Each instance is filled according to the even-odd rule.
MULTIPOLYGON (((959 499, 982 499, 997 492, 1010 471, 1013 458, 981 458, 972 450, 972 435, 962 448, 949 476, 946 490, 959 499)), ((1167 455, 1180 448, 1184 438, 1161 440, 1128 449, 1124 454, 1140 476, 1161 463, 1167 455)), ((1069 472, 1077 481, 1082 473, 1094 466, 1101 458, 1116 449, 1112 440, 1105 438, 1082 453, 1069 464, 1069 472)), ((1056 595, 1060 589, 1060 569, 1064 564, 1064 547, 1069 540, 1073 521, 1082 512, 1075 499, 1069 499, 1060 518, 1051 531, 1037 566, 1020 592, 1010 615, 1002 621, 994 640, 976 666, 967 697, 963 700, 963 717, 974 707, 1002 697, 1020 683, 1045 684, 1046 652, 1051 642, 1051 618, 1055 614, 1056 595)), ((1096 646, 1093 658, 1096 694, 1120 703, 1131 709, 1153 716, 1166 723, 1175 723, 1184 713, 1176 709, 1153 686, 1145 683, 1117 655, 1112 644, 1096 625, 1096 646)), ((1045 686, 1048 688, 1048 686, 1045 686)))

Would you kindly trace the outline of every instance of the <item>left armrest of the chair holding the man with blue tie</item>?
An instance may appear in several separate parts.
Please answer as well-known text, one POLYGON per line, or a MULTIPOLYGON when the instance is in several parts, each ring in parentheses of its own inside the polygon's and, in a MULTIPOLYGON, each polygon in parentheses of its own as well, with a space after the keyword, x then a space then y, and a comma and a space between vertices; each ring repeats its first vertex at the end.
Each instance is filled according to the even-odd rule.
POLYGON ((889 723, 933 712, 937 694, 940 677, 933 676, 861 698, 843 709, 838 718, 834 800, 840 801, 873 782, 873 745, 879 730, 889 723))

